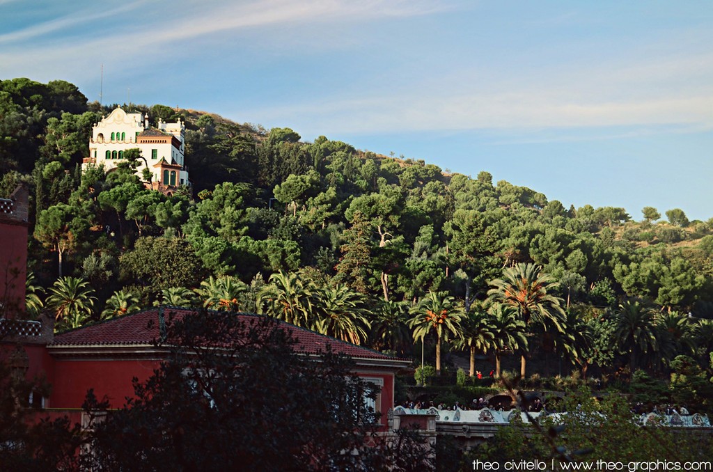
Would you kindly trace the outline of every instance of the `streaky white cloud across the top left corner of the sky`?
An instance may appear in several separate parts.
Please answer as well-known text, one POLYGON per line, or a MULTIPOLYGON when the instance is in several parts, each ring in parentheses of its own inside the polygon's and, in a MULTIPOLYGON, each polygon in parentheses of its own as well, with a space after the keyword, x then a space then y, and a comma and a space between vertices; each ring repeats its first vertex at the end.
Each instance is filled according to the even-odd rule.
MULTIPOLYGON (((180 61, 185 51, 196 47, 191 41, 204 37, 220 37, 220 34, 237 31, 256 34, 260 28, 281 24, 302 26, 309 31, 314 30, 314 25, 335 21, 419 16, 451 8, 453 1, 425 0, 261 0, 207 7, 181 0, 170 4, 138 1, 98 14, 71 11, 61 19, 0 35, 0 44, 7 45, 0 52, 0 63, 9 71, 43 76, 46 71, 77 70, 94 66, 98 61, 130 57, 122 66, 125 71, 131 71, 145 68, 157 59, 150 54, 140 54, 139 50, 153 48, 155 52, 160 51, 160 59, 180 61), (165 21, 153 20, 162 16, 165 21), (106 24, 98 20, 107 17, 113 19, 112 24, 123 26, 106 28, 106 24), (51 36, 62 31, 71 34, 59 38, 51 36), (99 58, 100 55, 106 60, 99 58)), ((272 34, 278 35, 279 31, 272 34)), ((255 41, 255 47, 259 45, 260 41, 255 41)))

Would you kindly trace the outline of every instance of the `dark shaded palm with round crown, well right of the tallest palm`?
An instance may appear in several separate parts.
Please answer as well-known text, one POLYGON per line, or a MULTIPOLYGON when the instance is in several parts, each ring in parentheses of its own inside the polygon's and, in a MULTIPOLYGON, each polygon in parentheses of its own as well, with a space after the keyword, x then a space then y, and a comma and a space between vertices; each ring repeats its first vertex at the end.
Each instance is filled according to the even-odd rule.
POLYGON ((616 329, 612 343, 630 353, 632 374, 637 366, 637 354, 658 349, 655 314, 639 301, 627 300, 614 313, 616 329))

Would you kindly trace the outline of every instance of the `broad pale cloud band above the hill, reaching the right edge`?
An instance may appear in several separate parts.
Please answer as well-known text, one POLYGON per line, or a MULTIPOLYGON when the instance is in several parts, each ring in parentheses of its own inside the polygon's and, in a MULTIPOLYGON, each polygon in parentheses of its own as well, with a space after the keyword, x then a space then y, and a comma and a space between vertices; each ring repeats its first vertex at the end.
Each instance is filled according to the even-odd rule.
POLYGON ((250 112, 264 116, 265 123, 299 117, 304 125, 336 133, 617 125, 701 129, 713 125, 712 59, 693 54, 625 66, 600 64, 605 78, 575 65, 558 67, 556 73, 539 71, 542 78, 523 74, 470 80, 466 75, 438 86, 429 79, 428 87, 250 112))

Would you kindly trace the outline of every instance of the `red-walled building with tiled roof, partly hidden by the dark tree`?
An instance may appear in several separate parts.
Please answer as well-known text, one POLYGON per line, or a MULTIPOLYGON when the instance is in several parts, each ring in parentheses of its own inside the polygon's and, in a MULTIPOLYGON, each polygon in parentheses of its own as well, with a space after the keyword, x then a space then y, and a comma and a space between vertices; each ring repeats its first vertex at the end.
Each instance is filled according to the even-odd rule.
MULTIPOLYGON (((70 332, 56 334, 42 356, 51 396, 45 408, 51 411, 71 411, 81 407, 88 389, 100 398, 107 395, 113 406, 123 405, 126 396, 133 396, 131 379, 147 379, 168 355, 168 348, 156 347, 160 327, 166 316, 180 316, 188 309, 148 309, 125 317, 89 325, 70 332)), ((250 323, 260 315, 236 314, 250 323)), ((381 424, 386 426, 386 412, 394 407, 394 374, 411 364, 386 354, 355 346, 316 332, 280 322, 296 340, 294 350, 315 356, 328 347, 335 354, 347 354, 355 364, 356 375, 381 387, 381 393, 371 405, 381 412, 381 424)))

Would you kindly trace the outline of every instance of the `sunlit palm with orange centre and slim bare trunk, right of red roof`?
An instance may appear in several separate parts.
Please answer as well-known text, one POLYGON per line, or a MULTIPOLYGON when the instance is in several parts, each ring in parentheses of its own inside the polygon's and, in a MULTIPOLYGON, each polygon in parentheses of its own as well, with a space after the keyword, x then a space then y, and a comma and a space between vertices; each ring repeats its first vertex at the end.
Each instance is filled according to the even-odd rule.
POLYGON ((414 340, 424 340, 427 334, 436 334, 436 375, 441 374, 441 342, 448 337, 461 335, 461 322, 465 318, 463 311, 456 307, 456 299, 448 297, 448 292, 429 291, 415 307, 414 315, 409 320, 409 327, 414 330, 414 340))

